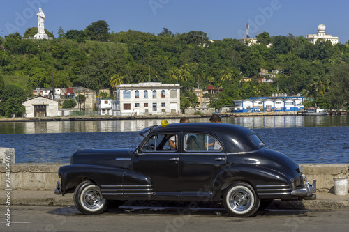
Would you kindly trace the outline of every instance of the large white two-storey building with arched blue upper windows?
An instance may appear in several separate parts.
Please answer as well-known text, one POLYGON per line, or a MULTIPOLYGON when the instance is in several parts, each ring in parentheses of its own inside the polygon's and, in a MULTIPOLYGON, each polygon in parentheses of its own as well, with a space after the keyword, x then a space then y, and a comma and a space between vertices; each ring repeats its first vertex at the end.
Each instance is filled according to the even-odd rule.
POLYGON ((114 91, 112 115, 179 114, 179 84, 120 84, 114 91))

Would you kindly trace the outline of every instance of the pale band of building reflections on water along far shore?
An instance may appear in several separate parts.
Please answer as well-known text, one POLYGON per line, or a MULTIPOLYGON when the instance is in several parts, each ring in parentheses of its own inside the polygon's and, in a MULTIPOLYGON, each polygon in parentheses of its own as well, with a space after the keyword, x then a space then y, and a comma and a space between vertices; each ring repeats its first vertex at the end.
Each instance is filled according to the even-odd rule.
MULTIPOLYGON (((222 118, 223 123, 242 125, 250 129, 288 127, 332 127, 349 125, 349 116, 260 116, 222 118)), ((179 119, 168 119, 178 123, 179 119)), ((191 118, 191 122, 209 122, 209 118, 191 118)), ((41 134, 72 132, 131 132, 160 125, 161 119, 64 122, 0 122, 0 134, 41 134)))

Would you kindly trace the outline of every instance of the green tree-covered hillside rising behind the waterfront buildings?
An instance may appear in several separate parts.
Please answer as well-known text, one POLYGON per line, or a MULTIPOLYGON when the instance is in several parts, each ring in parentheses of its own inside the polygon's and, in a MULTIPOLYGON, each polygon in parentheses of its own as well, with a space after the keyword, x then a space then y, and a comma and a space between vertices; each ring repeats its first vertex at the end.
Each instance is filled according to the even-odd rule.
MULTIPOLYGON (((208 84, 223 88, 211 96, 211 107, 232 105, 232 100, 272 93, 302 95, 327 107, 343 108, 349 99, 349 47, 303 36, 258 36, 247 46, 236 39, 209 40, 202 31, 158 35, 140 31, 110 32, 107 22, 94 22, 82 31, 59 29, 54 40, 27 39, 34 29, 0 37, 0 114, 8 115, 8 86, 28 97, 34 88, 83 86, 112 89, 117 80, 180 83, 182 107, 195 105, 193 88, 208 84), (259 83, 260 68, 280 70, 274 83, 259 83), (149 77, 150 73, 150 77, 149 77), (242 81, 251 77, 251 82, 242 81), (112 80, 114 78, 114 81, 112 80), (7 88, 6 88, 7 86, 7 88), (14 87, 11 87, 14 88, 14 87)), ((53 35, 52 35, 53 36, 53 35)))

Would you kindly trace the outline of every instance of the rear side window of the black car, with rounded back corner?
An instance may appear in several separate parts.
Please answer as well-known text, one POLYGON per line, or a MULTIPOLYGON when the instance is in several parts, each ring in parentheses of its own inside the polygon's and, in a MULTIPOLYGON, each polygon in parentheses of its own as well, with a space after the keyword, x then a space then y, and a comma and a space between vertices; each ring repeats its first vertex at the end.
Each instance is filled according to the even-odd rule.
POLYGON ((186 134, 184 145, 186 151, 218 152, 223 150, 221 144, 209 134, 186 134))

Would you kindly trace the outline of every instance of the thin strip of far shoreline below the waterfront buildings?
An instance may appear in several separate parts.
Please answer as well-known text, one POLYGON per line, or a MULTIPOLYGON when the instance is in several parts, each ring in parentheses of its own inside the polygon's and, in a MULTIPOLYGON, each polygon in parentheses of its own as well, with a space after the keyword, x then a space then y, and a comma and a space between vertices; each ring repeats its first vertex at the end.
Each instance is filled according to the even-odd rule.
MULTIPOLYGON (((212 114, 193 115, 149 115, 149 116, 57 116, 41 118, 0 118, 0 123, 7 122, 51 122, 51 121, 108 121, 108 120, 146 120, 146 119, 177 119, 181 117, 188 118, 209 118, 212 114)), ((260 112, 260 113, 221 113, 221 117, 253 117, 253 116, 301 116, 295 112, 260 112)))

